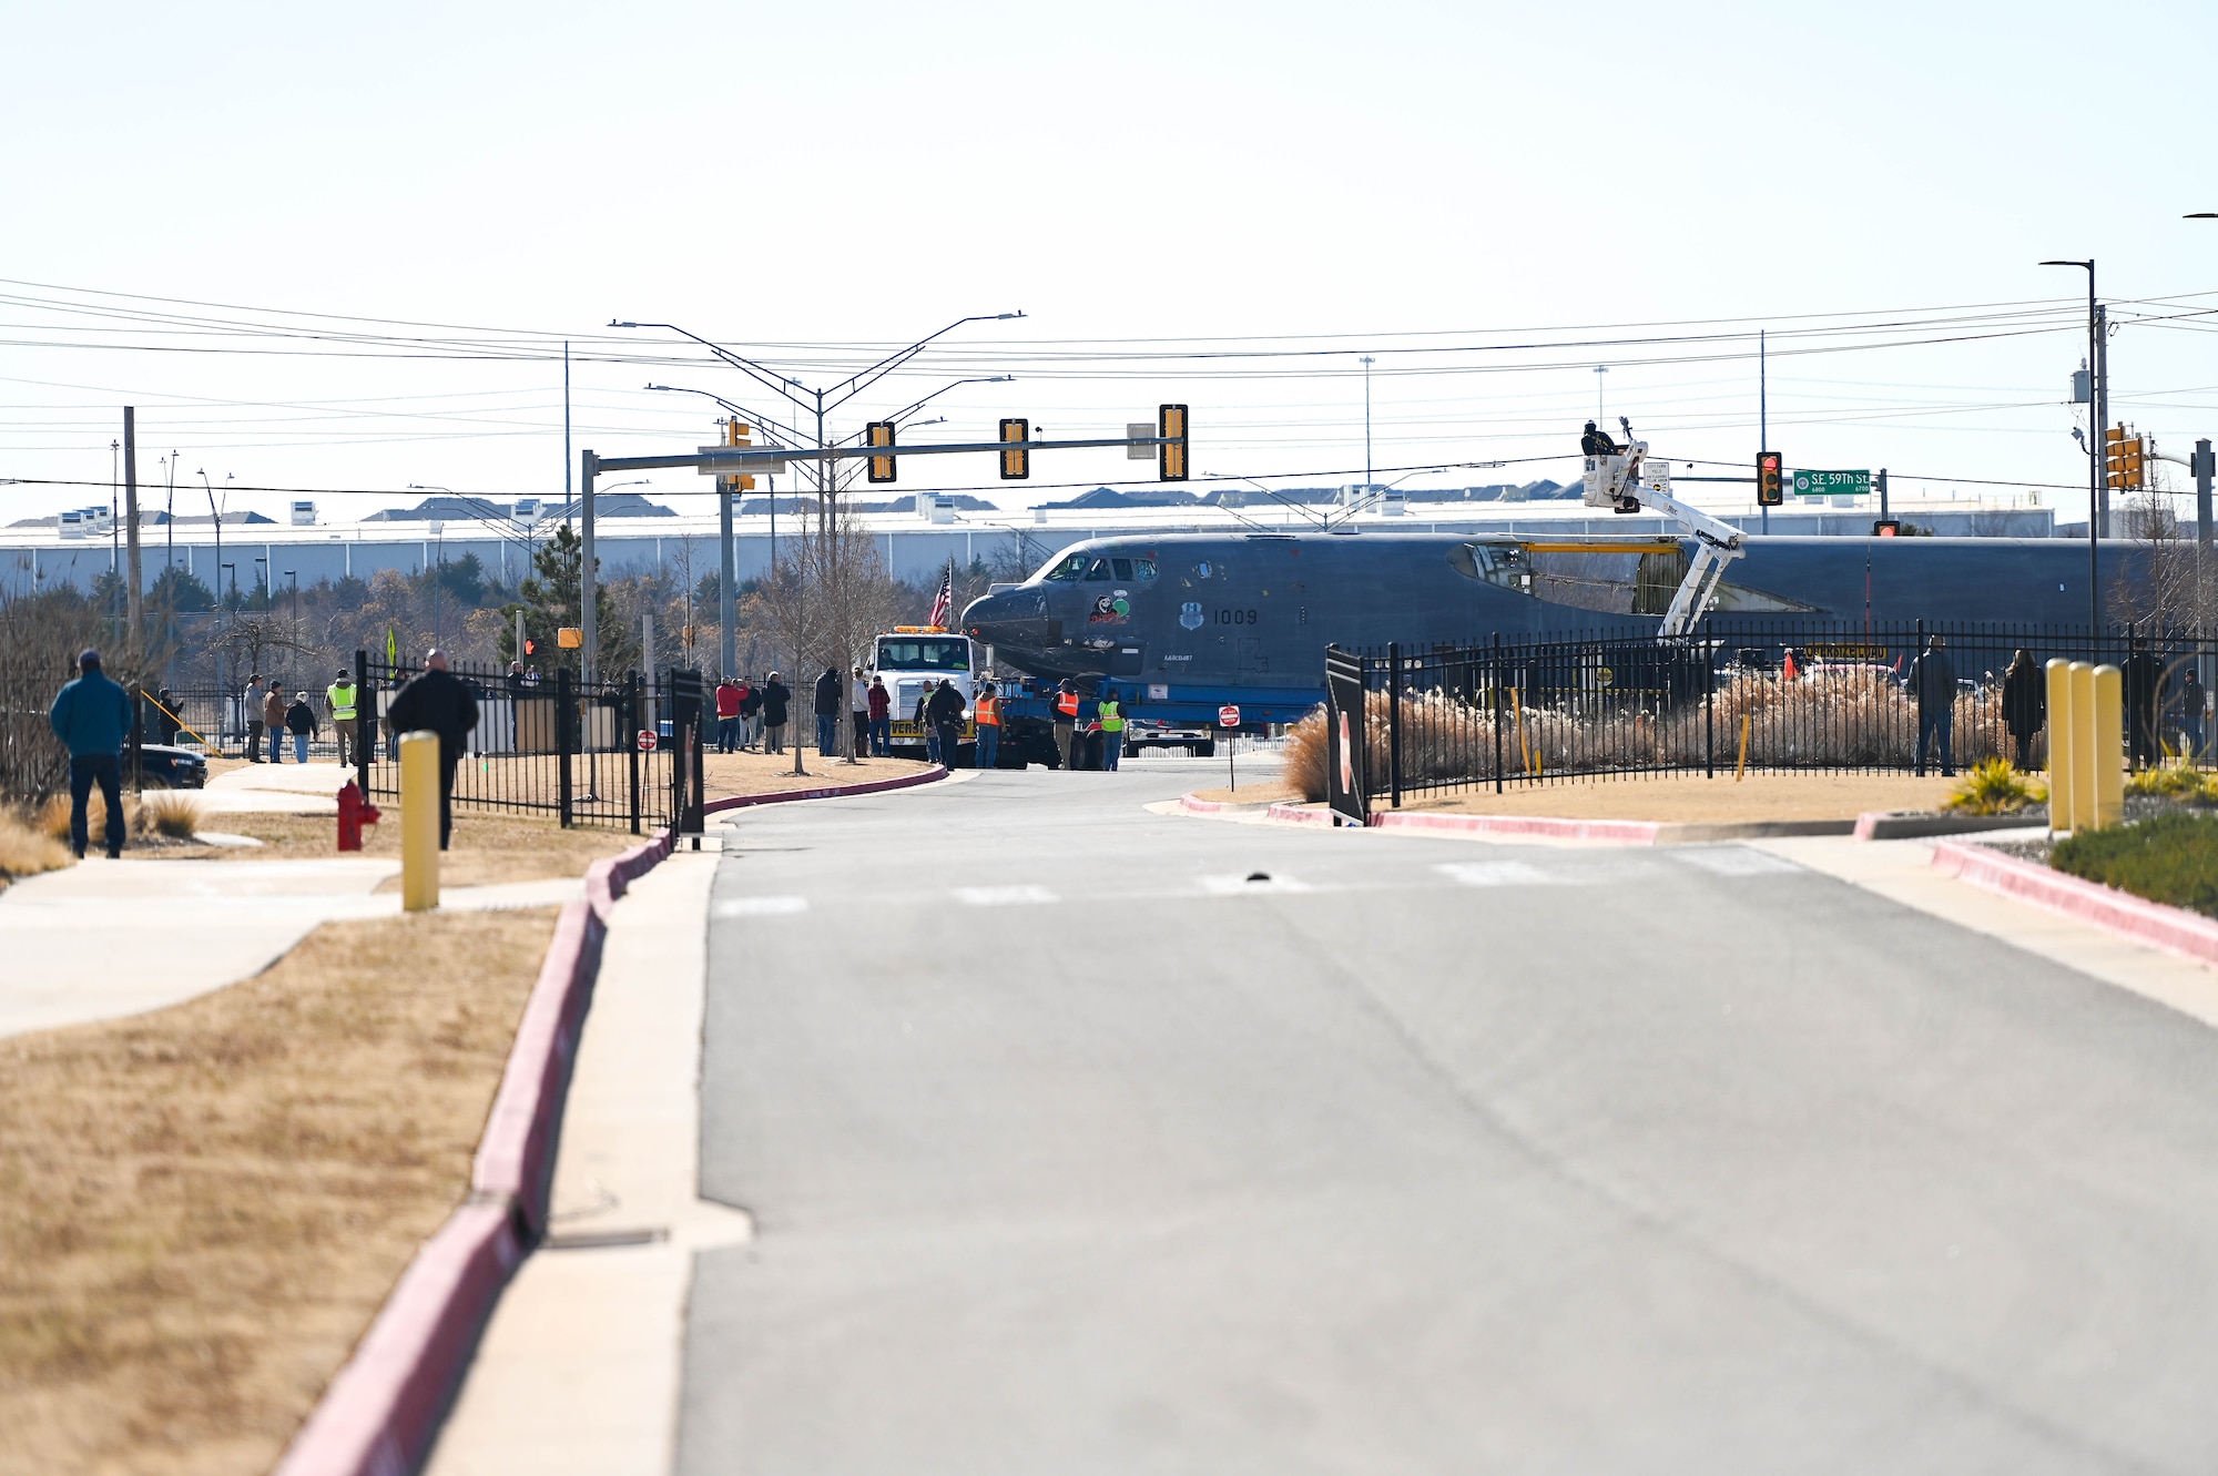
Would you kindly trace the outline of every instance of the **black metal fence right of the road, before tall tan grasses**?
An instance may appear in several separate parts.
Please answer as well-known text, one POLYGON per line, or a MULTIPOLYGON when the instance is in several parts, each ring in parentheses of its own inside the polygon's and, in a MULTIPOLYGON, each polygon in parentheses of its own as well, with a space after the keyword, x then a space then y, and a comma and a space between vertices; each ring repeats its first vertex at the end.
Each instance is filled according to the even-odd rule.
POLYGON ((1732 623, 1679 640, 1628 629, 1431 649, 1329 647, 1329 791, 1353 818, 1371 796, 1400 804, 1406 791, 1597 776, 1925 773, 1994 756, 2034 769, 2047 762, 2049 658, 2125 672, 2136 765, 2200 758, 2214 656, 2218 643, 2185 634, 1923 621, 1872 629, 1732 623), (2021 652, 2029 669, 2012 676, 2021 652))

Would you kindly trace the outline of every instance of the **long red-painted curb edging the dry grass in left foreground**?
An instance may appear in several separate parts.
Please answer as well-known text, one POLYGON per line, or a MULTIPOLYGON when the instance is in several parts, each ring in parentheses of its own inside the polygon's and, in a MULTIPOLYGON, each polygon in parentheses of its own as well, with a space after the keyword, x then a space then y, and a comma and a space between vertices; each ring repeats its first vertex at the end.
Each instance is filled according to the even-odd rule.
POLYGON ((293 1436, 277 1476, 404 1476, 446 1405, 523 1248, 546 1228, 570 1062, 617 898, 670 855, 670 833, 586 869, 523 1004, 470 1166, 470 1203, 424 1241, 368 1334, 293 1436))

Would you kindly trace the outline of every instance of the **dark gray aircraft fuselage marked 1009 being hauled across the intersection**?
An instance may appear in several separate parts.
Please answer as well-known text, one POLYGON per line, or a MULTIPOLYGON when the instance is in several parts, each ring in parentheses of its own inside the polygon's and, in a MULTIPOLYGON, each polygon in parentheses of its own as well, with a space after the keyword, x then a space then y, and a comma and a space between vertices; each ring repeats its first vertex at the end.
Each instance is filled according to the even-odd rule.
MULTIPOLYGON (((1153 700, 1315 703, 1326 643, 1404 647, 1657 629, 1683 556, 1504 534, 1171 534, 1091 539, 1014 590, 974 601, 963 629, 996 660, 1153 700), (1553 550, 1553 552, 1533 552, 1553 550), (1211 698, 1209 694, 1227 694, 1211 698)), ((2100 554, 2109 585, 2140 552, 2100 554)), ((1726 572, 1719 632, 1783 623, 2021 623, 2085 627, 2087 545, 2065 539, 1750 539, 1726 572)))

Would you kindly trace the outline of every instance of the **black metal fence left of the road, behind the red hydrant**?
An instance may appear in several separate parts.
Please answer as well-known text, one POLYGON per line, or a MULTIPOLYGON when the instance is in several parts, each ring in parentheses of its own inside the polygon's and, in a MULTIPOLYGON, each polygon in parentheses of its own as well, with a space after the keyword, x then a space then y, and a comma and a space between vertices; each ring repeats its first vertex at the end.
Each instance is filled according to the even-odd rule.
MULTIPOLYGON (((355 654, 355 762, 364 793, 399 798, 399 738, 384 731, 393 696, 421 667, 355 654)), ((499 669, 452 667, 477 694, 477 727, 455 767, 455 807, 552 813, 563 824, 645 829, 672 816, 701 829, 705 745, 701 674, 670 669, 583 680, 572 672, 526 683, 499 669)), ((681 829, 685 829, 681 824, 681 829)))

